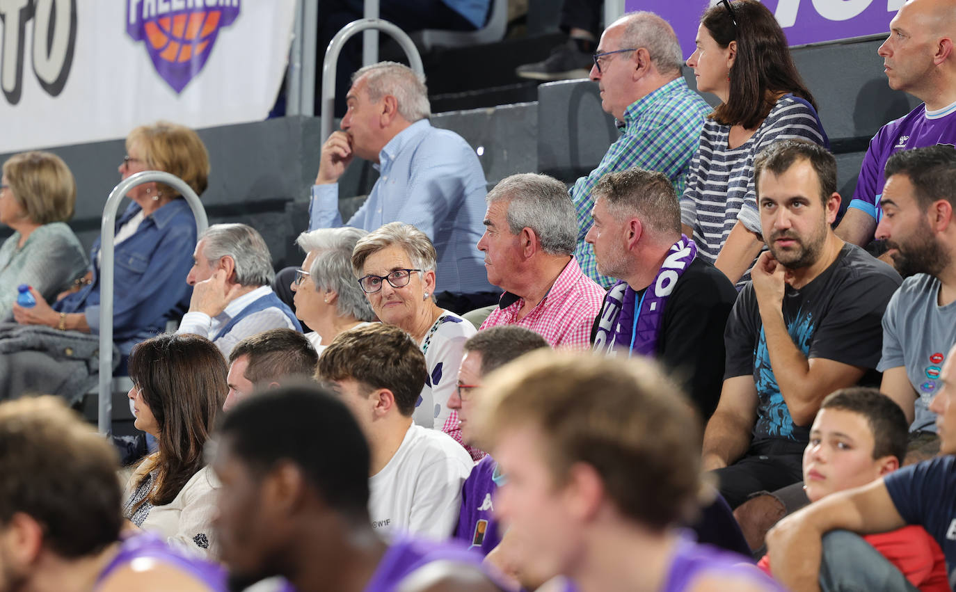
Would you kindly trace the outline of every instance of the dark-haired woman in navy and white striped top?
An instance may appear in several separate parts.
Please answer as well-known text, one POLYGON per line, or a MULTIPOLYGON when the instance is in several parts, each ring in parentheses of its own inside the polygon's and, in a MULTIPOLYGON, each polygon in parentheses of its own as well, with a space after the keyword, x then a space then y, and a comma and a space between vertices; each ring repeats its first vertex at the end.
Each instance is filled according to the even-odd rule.
POLYGON ((737 282, 748 277, 763 248, 754 157, 788 138, 827 147, 829 141, 787 37, 763 4, 721 0, 704 13, 696 43, 687 65, 697 90, 716 95, 721 104, 701 132, 681 198, 681 223, 697 242, 698 255, 737 282))

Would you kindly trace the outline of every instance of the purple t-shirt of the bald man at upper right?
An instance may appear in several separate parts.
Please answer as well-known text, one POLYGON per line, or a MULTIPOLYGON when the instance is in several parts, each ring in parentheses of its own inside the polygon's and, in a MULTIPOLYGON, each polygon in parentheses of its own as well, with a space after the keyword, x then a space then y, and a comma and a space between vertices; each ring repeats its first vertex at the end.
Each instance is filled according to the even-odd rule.
POLYGON ((870 141, 870 147, 863 157, 857 189, 853 192, 849 207, 865 211, 879 222, 882 217, 880 196, 886 182, 883 177, 886 161, 901 150, 938 143, 956 145, 956 103, 930 112, 926 112, 926 105, 923 104, 899 120, 883 125, 870 141))

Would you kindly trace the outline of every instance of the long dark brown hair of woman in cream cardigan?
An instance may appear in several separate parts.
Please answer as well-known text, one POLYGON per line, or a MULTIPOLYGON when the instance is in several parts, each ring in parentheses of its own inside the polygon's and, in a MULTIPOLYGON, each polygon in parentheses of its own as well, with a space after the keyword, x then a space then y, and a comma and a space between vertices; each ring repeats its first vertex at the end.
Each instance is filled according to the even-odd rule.
POLYGON ((165 334, 142 341, 129 358, 129 377, 156 418, 160 449, 142 462, 141 480, 159 471, 144 498, 171 502, 206 462, 203 447, 223 408, 226 360, 212 341, 198 335, 165 334))

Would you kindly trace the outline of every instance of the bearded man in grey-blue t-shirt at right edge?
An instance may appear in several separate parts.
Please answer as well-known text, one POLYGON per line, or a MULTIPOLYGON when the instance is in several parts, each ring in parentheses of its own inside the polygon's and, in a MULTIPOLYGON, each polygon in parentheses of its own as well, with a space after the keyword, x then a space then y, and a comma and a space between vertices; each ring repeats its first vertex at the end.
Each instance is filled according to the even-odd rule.
POLYGON ((956 150, 898 152, 885 174, 877 236, 906 279, 883 315, 880 391, 902 407, 911 434, 928 432, 914 440, 935 442, 936 414, 927 407, 956 343, 956 150))

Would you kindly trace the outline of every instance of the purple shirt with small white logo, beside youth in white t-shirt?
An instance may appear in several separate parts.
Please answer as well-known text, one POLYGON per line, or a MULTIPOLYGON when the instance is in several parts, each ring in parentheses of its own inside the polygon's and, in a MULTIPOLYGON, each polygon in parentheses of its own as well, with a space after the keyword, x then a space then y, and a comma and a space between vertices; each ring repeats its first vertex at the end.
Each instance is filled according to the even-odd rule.
POLYGON ((454 537, 482 555, 488 555, 501 542, 491 501, 503 482, 498 463, 486 456, 474 466, 462 486, 462 510, 454 537))

